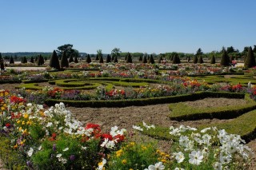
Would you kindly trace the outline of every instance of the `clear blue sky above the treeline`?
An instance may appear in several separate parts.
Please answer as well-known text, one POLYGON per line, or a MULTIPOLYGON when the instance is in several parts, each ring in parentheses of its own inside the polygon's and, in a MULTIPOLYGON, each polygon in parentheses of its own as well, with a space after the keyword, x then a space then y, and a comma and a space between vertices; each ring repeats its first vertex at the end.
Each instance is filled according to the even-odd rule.
POLYGON ((255 0, 0 0, 0 52, 242 50, 255 16, 255 0))

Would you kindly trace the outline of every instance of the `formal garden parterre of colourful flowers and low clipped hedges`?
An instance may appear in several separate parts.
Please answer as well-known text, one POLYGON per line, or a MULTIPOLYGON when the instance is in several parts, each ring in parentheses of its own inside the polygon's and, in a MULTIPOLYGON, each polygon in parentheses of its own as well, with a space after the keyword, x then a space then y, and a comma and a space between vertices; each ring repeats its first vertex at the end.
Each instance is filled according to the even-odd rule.
POLYGON ((255 68, 234 66, 237 61, 225 66, 130 59, 128 63, 111 62, 110 57, 107 63, 71 61, 65 68, 59 66, 62 70, 13 67, 1 72, 1 84, 17 84, 16 89, 0 90, 0 157, 6 168, 250 168, 253 152, 246 142, 256 134, 255 68), (239 98, 246 104, 197 109, 181 103, 206 97, 239 98), (233 120, 197 128, 141 122, 132 132, 117 126, 103 132, 93 122, 82 125, 66 109, 66 105, 111 108, 162 103, 170 104, 170 120, 233 120), (172 142, 168 152, 158 149, 158 140, 172 142))

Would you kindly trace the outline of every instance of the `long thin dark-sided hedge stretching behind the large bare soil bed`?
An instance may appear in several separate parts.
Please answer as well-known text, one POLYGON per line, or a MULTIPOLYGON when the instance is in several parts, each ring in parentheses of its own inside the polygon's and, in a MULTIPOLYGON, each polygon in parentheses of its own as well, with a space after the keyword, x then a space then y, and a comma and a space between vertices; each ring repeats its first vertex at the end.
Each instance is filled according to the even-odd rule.
POLYGON ((222 93, 222 92, 198 92, 192 94, 182 94, 171 97, 151 97, 142 99, 131 99, 131 100, 110 100, 110 101, 66 101, 47 99, 46 105, 55 105, 56 103, 63 102, 65 105, 74 107, 126 107, 131 105, 142 106, 142 105, 156 105, 166 103, 177 103, 180 101, 196 101, 206 97, 227 97, 227 98, 244 98, 245 93, 222 93))

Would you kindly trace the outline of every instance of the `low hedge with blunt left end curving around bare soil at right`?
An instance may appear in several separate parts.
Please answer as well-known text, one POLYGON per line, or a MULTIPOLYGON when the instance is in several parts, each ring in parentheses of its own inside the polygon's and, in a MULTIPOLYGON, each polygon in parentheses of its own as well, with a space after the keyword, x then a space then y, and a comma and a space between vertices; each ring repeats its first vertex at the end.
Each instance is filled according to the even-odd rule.
POLYGON ((250 112, 256 109, 256 102, 250 99, 249 94, 246 94, 245 100, 248 101, 245 105, 230 105, 222 107, 211 107, 196 109, 183 103, 170 104, 170 120, 173 121, 195 121, 200 119, 231 119, 239 117, 243 113, 250 112))

